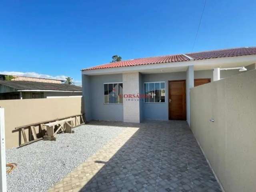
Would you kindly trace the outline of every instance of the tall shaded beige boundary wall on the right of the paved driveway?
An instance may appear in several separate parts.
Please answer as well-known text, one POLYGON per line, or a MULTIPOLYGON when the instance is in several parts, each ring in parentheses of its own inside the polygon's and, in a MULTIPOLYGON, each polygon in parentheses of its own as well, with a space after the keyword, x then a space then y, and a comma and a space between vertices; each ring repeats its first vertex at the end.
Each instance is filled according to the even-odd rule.
POLYGON ((255 192, 256 70, 192 88, 190 97, 192 132, 224 191, 255 192))

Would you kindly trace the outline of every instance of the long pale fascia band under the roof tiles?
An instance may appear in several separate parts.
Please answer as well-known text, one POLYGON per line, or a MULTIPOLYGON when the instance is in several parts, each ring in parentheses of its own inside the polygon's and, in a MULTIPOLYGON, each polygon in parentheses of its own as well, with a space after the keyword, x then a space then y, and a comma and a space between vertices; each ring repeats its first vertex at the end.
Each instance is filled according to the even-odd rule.
POLYGON ((190 60, 182 62, 168 62, 168 63, 158 63, 158 64, 145 64, 137 66, 125 66, 125 67, 113 67, 105 69, 94 69, 94 70, 82 70, 84 75, 102 75, 102 74, 117 74, 125 72, 135 72, 140 70, 150 70, 150 69, 161 69, 161 68, 172 68, 172 67, 182 67, 182 66, 207 66, 212 65, 214 67, 220 67, 225 64, 230 64, 232 62, 255 62, 256 55, 246 55, 246 56, 235 56, 235 57, 222 57, 222 58, 211 58, 203 60, 190 60))

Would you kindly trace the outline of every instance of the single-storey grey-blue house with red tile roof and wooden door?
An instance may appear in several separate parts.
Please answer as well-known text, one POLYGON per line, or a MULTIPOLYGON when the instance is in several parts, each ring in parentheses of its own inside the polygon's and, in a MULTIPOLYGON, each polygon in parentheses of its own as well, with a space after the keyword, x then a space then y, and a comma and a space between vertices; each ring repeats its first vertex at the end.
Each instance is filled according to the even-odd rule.
POLYGON ((86 120, 187 120, 190 88, 256 69, 256 48, 139 58, 82 70, 86 120))

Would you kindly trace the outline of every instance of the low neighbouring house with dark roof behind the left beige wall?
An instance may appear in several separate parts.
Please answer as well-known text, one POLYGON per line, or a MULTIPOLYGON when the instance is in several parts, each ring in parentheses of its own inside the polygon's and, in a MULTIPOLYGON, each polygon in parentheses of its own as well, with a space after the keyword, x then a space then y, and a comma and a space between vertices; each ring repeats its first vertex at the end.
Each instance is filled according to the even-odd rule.
POLYGON ((82 88, 70 84, 0 80, 0 100, 82 96, 82 88))

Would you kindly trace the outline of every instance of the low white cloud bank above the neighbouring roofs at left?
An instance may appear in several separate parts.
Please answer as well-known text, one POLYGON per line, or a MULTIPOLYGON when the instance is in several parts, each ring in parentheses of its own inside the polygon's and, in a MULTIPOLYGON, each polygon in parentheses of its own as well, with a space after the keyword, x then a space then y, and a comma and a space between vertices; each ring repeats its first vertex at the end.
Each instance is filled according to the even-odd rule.
MULTIPOLYGON (((58 80, 66 80, 65 75, 58 75, 58 76, 51 76, 46 74, 39 74, 36 72, 18 72, 18 71, 0 71, 0 74, 3 75, 17 75, 17 76, 24 76, 24 77, 37 77, 37 78, 46 78, 46 79, 58 79, 58 80)), ((81 85, 81 80, 73 80, 74 84, 81 85)))

